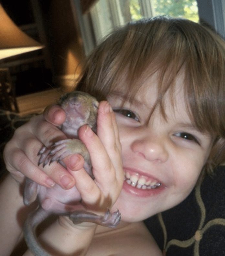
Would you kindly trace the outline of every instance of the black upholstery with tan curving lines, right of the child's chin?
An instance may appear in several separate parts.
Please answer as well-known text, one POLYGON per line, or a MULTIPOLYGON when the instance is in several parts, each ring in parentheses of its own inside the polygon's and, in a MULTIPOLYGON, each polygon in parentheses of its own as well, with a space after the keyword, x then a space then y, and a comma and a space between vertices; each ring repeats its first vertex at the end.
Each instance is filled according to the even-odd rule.
POLYGON ((225 255, 225 166, 145 224, 166 256, 225 255))

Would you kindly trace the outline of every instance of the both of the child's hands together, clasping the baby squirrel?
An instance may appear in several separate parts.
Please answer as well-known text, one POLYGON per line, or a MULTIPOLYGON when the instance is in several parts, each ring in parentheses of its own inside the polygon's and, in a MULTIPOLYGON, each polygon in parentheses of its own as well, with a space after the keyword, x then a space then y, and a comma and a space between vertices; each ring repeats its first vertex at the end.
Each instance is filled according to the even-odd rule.
POLYGON ((113 204, 118 197, 123 183, 120 142, 114 113, 110 110, 108 103, 102 102, 98 115, 99 137, 85 126, 79 131, 80 139, 83 140, 91 155, 96 183, 81 168, 83 158, 80 155, 71 155, 64 159, 69 172, 56 162, 44 168, 42 165, 37 166, 39 159, 37 152, 43 144, 49 146, 54 141, 66 138, 56 127, 64 120, 64 111, 59 106, 52 106, 46 109, 44 117, 36 116, 18 128, 5 147, 4 157, 7 169, 20 182, 26 176, 48 187, 56 182, 61 187, 69 189, 74 186, 76 179, 78 189, 82 187, 80 193, 85 204, 94 204, 98 194, 99 204, 103 207, 106 203, 109 207, 109 204, 113 204), (72 172, 71 170, 80 171, 72 172), (112 202, 105 202, 105 197, 112 202))

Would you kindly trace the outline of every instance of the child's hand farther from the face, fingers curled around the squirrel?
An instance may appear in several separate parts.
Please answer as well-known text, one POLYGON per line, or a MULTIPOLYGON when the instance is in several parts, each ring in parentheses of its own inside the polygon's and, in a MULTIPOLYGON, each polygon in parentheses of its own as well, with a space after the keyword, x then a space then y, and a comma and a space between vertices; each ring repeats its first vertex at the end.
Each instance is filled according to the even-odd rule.
MULTIPOLYGON (((66 138, 57 128, 64 120, 64 110, 54 105, 48 107, 44 115, 35 116, 27 124, 16 129, 13 138, 5 146, 4 159, 6 168, 17 181, 22 182, 26 176, 47 187, 53 186, 55 182, 67 189, 74 186, 74 178, 61 165, 52 163, 45 168, 41 165, 37 166, 39 160, 37 152, 43 144, 50 146, 54 141, 66 138)), ((71 157, 76 155, 68 158, 71 157)), ((77 157, 81 160, 81 165, 77 161, 80 168, 83 159, 77 157)))

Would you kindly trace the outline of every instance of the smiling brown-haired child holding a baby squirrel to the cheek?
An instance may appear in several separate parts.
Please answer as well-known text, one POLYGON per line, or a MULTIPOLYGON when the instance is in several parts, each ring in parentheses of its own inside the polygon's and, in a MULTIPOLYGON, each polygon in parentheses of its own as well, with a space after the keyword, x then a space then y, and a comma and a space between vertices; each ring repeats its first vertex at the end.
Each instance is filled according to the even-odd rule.
MULTIPOLYGON (((37 166, 42 145, 65 138, 57 128, 65 119, 59 106, 17 129, 5 148, 7 169, 17 181, 27 176, 64 189, 75 184, 87 210, 108 207, 122 214, 115 229, 59 217, 40 237, 49 253, 161 255, 142 221, 183 201, 201 174, 225 160, 224 70, 225 43, 209 28, 166 17, 129 23, 88 57, 77 86, 103 100, 97 135, 87 126, 79 130, 94 180, 80 155, 64 159, 67 170, 57 163, 37 166)), ((7 255, 21 232, 17 220, 23 222, 30 209, 22 206, 10 176, 0 189, 0 241, 7 255)))

